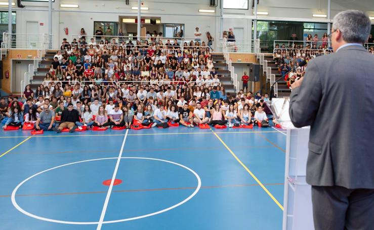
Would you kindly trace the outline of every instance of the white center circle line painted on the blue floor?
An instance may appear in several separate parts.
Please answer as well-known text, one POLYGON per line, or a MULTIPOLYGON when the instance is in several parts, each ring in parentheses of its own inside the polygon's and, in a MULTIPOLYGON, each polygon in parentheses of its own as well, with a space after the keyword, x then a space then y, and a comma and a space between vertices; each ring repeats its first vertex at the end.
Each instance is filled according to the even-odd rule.
MULTIPOLYGON (((86 160, 86 161, 78 161, 78 162, 68 163, 68 164, 65 164, 65 165, 56 166, 56 167, 53 167, 53 168, 50 168, 50 169, 38 172, 38 173, 36 173, 36 174, 34 174, 34 175, 26 178, 25 180, 23 180, 21 183, 19 183, 14 188, 14 190, 12 192, 12 196, 11 196, 12 204, 13 204, 13 206, 18 211, 22 212, 23 214, 25 214, 27 216, 30 216, 32 218, 35 218, 35 219, 39 219, 39 220, 44 220, 44 221, 49 221, 49 222, 55 222, 55 223, 65 223, 65 224, 98 224, 99 221, 97 221, 97 222, 64 221, 64 220, 56 220, 56 219, 50 219, 50 218, 46 218, 46 217, 41 217, 41 216, 34 215, 32 213, 29 213, 29 212, 25 211, 24 209, 22 209, 17 204, 17 202, 16 202, 16 193, 17 193, 17 190, 22 186, 22 184, 24 184, 26 181, 28 181, 31 178, 33 178, 33 177, 35 177, 37 175, 40 175, 42 173, 45 173, 45 172, 48 172, 48 171, 51 171, 51 170, 54 170, 54 169, 57 169, 57 168, 61 168, 61 167, 64 167, 64 166, 68 166, 68 165, 74 165, 74 164, 79 164, 79 163, 84 163, 84 162, 90 162, 90 161, 102 161, 102 160, 113 160, 113 159, 118 159, 118 158, 100 158, 100 159, 92 159, 92 160, 86 160)), ((159 210, 157 212, 152 212, 152 213, 149 213, 149 214, 145 214, 145 215, 141 215, 141 216, 135 216, 135 217, 126 218, 126 219, 103 221, 103 223, 117 223, 117 222, 124 222, 124 221, 136 220, 136 219, 141 219, 141 218, 145 218, 145 217, 149 217, 149 216, 154 216, 154 215, 157 215, 157 214, 160 214, 160 213, 163 213, 163 212, 167 212, 169 210, 172 210, 172 209, 174 209, 174 208, 176 208, 176 207, 178 207, 178 206, 186 203, 187 201, 189 201, 190 199, 192 199, 198 193, 198 191, 200 190, 201 179, 200 179, 199 175, 195 171, 193 171, 192 169, 188 168, 187 166, 184 166, 184 165, 172 162, 172 161, 161 160, 161 159, 156 159, 156 158, 121 157, 121 159, 141 159, 141 160, 161 161, 161 162, 166 162, 166 163, 170 163, 170 164, 173 164, 173 165, 180 166, 180 167, 182 167, 182 168, 187 169, 188 171, 190 171, 196 177, 196 179, 197 179, 197 187, 196 187, 196 189, 193 191, 193 193, 189 197, 187 197, 183 201, 181 201, 178 204, 175 204, 175 205, 173 205, 173 206, 171 206, 169 208, 165 208, 165 209, 159 210)))

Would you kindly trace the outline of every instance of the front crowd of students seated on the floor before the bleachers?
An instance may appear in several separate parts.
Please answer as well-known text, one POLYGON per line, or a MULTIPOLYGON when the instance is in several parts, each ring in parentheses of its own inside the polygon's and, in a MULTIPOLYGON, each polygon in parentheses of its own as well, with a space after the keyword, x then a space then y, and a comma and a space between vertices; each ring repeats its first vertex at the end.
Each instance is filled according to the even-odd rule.
POLYGON ((166 92, 156 92, 154 86, 141 86, 136 93, 131 88, 122 86, 120 89, 111 88, 107 95, 112 91, 113 97, 104 101, 98 97, 80 101, 75 96, 63 95, 59 98, 54 95, 50 98, 43 95, 39 95, 37 99, 28 97, 24 103, 18 101, 18 98, 9 97, 8 102, 1 98, 1 112, 3 117, 8 117, 4 128, 22 127, 26 122, 34 124, 36 130, 54 130, 59 133, 64 128, 74 132, 76 128, 82 129, 84 126, 130 128, 134 121, 152 127, 163 123, 178 123, 191 128, 200 124, 227 124, 228 127, 233 127, 240 124, 257 124, 272 118, 264 103, 268 100, 267 94, 253 96, 252 92, 243 94, 240 90, 235 97, 227 94, 227 98, 223 99, 218 87, 214 86, 210 92, 215 95, 213 97, 190 97, 185 93, 177 97, 177 93, 170 87, 166 92), (146 91, 148 87, 149 92, 146 91), (138 96, 134 97, 133 101, 127 97, 114 97, 122 91, 138 96), (141 94, 146 95, 144 99, 141 94))

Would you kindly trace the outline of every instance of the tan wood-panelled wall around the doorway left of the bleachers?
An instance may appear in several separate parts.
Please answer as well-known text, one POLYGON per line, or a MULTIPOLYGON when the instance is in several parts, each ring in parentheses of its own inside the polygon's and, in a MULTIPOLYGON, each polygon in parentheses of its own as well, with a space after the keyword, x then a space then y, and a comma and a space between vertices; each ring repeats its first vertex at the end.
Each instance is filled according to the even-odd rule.
MULTIPOLYGON (((11 59, 29 59, 28 56, 31 55, 30 59, 33 59, 37 56, 37 50, 10 50, 7 54, 6 58, 3 58, 3 80, 2 81, 2 89, 7 92, 11 93, 11 82, 12 82, 12 69, 11 69, 11 59), (18 58, 18 55, 21 55, 18 58), (5 72, 9 71, 9 78, 5 78, 5 72)), ((21 83, 18 83, 21 84, 21 83)))

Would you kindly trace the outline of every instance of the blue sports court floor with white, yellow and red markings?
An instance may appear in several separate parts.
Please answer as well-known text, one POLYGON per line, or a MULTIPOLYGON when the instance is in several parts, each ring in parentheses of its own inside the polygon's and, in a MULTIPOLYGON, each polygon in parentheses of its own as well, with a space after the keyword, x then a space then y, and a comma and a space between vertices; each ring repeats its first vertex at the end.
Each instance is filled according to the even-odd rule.
POLYGON ((29 132, 0 131, 0 229, 281 229, 282 130, 29 132))

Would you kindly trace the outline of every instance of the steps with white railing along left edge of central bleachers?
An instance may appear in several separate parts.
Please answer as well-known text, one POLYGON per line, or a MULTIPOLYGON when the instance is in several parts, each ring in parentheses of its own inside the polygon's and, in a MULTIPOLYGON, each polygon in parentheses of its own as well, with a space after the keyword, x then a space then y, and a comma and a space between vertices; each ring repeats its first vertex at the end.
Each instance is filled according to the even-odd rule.
POLYGON ((57 50, 47 50, 45 57, 39 63, 36 72, 34 72, 32 80, 30 80, 31 88, 33 90, 36 90, 36 88, 43 83, 46 74, 51 68, 53 57, 56 53, 57 50))

